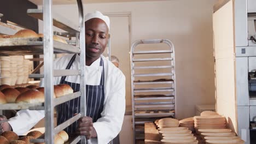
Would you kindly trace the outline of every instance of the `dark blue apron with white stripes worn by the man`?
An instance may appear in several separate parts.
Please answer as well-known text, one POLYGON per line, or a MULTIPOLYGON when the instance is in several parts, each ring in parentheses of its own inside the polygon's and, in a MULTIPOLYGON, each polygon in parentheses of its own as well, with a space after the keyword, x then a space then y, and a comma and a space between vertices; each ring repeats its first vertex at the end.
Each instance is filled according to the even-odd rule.
MULTIPOLYGON (((70 69, 71 65, 75 61, 74 55, 69 61, 67 68, 70 69)), ((100 66, 103 66, 103 60, 101 58, 100 66)), ((80 90, 79 83, 72 83, 65 81, 67 76, 62 76, 60 84, 68 84, 74 90, 78 92, 80 90)), ((104 104, 104 66, 101 74, 100 85, 91 86, 86 85, 86 116, 92 118, 92 122, 96 122, 98 118, 101 118, 101 112, 103 111, 104 104)), ((73 117, 75 113, 80 112, 80 97, 67 101, 66 103, 57 106, 57 124, 61 124, 73 117)), ((69 125, 65 131, 70 135, 77 131, 77 122, 69 125)))

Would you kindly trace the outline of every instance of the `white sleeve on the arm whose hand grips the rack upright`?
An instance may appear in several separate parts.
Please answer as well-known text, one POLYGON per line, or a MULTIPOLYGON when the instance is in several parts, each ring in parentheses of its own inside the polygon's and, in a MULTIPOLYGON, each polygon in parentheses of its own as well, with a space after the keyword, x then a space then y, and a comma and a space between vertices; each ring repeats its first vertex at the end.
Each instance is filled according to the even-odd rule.
MULTIPOLYGON (((106 97, 106 95, 105 95, 106 97)), ((121 131, 125 113, 125 76, 122 74, 114 82, 106 104, 103 106, 101 118, 95 122, 98 144, 106 144, 121 131)))

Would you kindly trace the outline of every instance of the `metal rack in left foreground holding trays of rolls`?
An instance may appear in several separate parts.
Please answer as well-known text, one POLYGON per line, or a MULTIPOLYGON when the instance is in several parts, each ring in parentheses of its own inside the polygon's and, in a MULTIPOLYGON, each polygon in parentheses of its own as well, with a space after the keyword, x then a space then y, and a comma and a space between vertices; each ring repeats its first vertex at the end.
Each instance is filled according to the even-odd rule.
MULTIPOLYGON (((54 143, 54 135, 65 129, 81 116, 86 115, 85 106, 85 25, 82 0, 77 0, 79 11, 79 26, 71 26, 72 22, 55 16, 52 11, 52 0, 43 1, 43 10, 28 9, 27 14, 36 19, 43 20, 44 38, 7 38, 0 40, 0 55, 44 55, 44 74, 33 74, 31 78, 44 78, 45 102, 39 104, 3 104, 0 110, 45 110, 45 134, 44 139, 37 139, 31 142, 54 143), (53 40, 53 26, 63 29, 69 36, 76 37, 76 45, 69 45, 53 40), (79 39, 78 39, 79 37, 79 39), (79 70, 54 70, 54 53, 80 53, 79 70), (80 92, 64 95, 60 98, 53 97, 53 77, 80 75, 80 92), (57 127, 54 127, 54 107, 71 99, 80 97, 80 113, 57 127)), ((7 31, 7 27, 1 27, 1 31, 7 31), (6 29, 5 29, 6 28, 6 29)), ((85 136, 77 136, 68 143, 86 143, 85 136)))

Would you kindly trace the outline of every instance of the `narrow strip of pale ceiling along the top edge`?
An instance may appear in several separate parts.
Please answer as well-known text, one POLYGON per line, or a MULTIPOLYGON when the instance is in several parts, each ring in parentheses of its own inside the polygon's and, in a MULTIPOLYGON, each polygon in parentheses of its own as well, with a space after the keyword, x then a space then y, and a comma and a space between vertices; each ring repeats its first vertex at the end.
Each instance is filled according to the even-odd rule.
MULTIPOLYGON (((28 0, 34 4, 42 5, 42 0, 28 0)), ((83 0, 84 3, 114 3, 114 2, 143 2, 159 0, 83 0)), ((164 0, 162 0, 164 1, 164 0)), ((53 4, 77 4, 77 0, 53 0, 53 4)))

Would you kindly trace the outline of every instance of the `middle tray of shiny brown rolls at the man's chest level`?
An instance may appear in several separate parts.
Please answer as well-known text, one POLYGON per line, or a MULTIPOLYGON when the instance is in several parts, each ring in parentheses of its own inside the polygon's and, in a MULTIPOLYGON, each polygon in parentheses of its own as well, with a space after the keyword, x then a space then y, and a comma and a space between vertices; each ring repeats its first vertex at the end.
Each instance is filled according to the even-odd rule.
MULTIPOLYGON (((13 88, 9 85, 1 85, 0 91, 0 110, 43 109, 44 87, 29 85, 13 88)), ((54 86, 53 97, 56 98, 55 101, 61 103, 73 99, 74 97, 68 97, 69 94, 74 94, 69 85, 54 86)), ((76 95, 79 97, 79 92, 76 95)))

